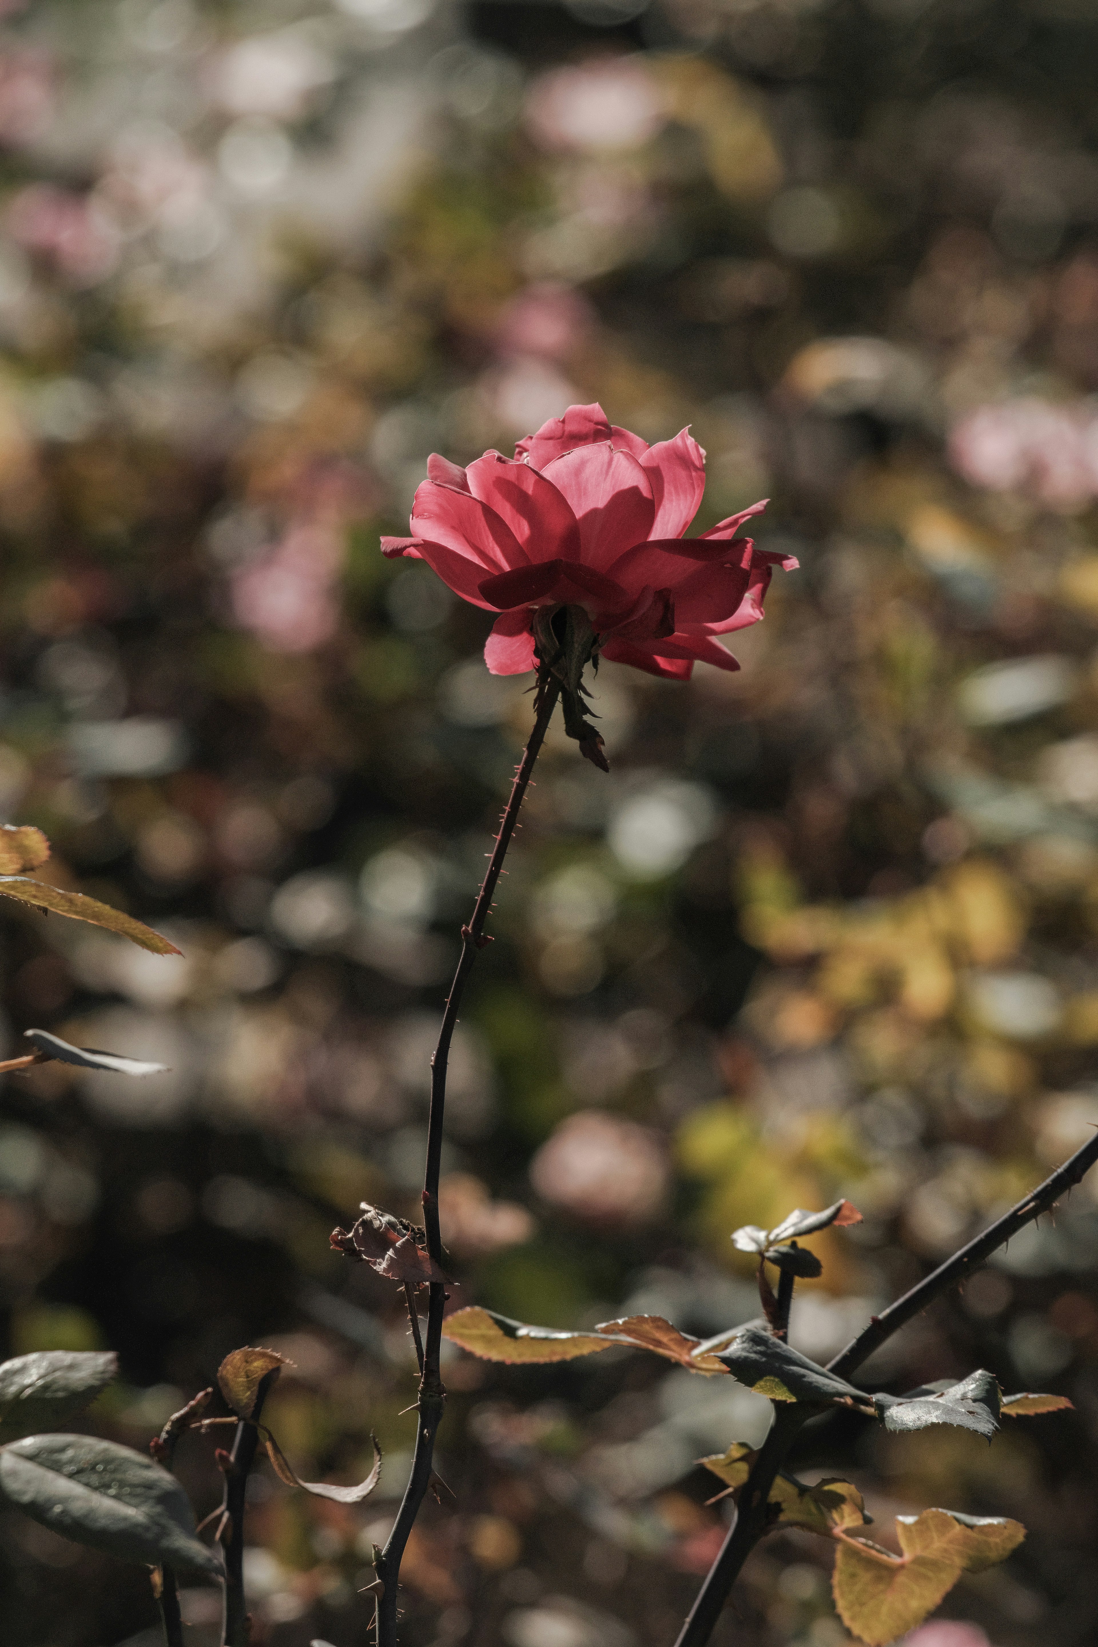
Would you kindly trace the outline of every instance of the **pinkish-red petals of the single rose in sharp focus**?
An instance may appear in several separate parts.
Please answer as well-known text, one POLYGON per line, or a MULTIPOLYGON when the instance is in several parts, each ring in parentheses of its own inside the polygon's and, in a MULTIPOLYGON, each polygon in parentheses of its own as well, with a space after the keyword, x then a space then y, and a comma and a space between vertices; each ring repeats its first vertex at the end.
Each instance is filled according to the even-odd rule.
POLYGON ((686 537, 705 491, 705 451, 688 430, 649 446, 599 405, 568 407, 514 458, 468 469, 438 455, 412 507, 412 537, 385 555, 426 560, 474 606, 499 613, 484 657, 495 675, 537 667, 533 614, 583 606, 596 656, 688 680, 696 660, 739 669, 718 636, 762 618, 775 565, 739 529, 752 504, 686 537))

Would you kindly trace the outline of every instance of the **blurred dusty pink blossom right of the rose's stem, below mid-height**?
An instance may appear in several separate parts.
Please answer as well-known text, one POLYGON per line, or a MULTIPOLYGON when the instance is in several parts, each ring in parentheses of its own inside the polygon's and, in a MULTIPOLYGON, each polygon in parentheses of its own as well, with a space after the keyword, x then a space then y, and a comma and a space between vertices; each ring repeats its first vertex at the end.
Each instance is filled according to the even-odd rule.
POLYGON ((667 1199, 658 1136, 601 1110, 570 1115, 530 1163, 543 1201, 591 1224, 647 1224, 667 1199))

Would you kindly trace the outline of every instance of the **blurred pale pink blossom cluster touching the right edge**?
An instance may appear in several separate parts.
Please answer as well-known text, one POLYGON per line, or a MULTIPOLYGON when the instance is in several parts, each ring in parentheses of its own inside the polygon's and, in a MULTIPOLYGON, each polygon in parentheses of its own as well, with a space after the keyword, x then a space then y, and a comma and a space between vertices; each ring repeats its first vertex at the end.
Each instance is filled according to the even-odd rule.
POLYGON ((1098 407, 1034 395, 978 407, 955 425, 950 463, 973 486, 1080 506, 1098 494, 1098 407))

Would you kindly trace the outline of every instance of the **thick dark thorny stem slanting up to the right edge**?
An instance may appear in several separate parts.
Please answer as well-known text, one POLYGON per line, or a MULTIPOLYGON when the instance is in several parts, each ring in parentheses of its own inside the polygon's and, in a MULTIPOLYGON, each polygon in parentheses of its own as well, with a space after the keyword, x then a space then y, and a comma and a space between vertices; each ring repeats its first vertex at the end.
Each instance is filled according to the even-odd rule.
MULTIPOLYGON (((1001 1219, 996 1219, 983 1235, 978 1235, 966 1247, 961 1247, 960 1252, 953 1253, 951 1258, 947 1258, 945 1263, 938 1265, 917 1286, 912 1286, 909 1293, 904 1293, 894 1304, 889 1304, 882 1314, 872 1316, 858 1337, 828 1362, 826 1370, 841 1379, 849 1377, 851 1372, 861 1367, 863 1360, 868 1360, 912 1316, 917 1316, 932 1304, 950 1286, 963 1281, 993 1252, 1004 1247, 1012 1235, 1017 1235, 1021 1229, 1040 1217, 1042 1212, 1049 1212, 1065 1191, 1078 1184, 1095 1161, 1098 1161, 1098 1133, 1082 1150, 1077 1150, 1063 1166, 1058 1166, 1044 1184, 1039 1184, 1016 1207, 1011 1207, 1001 1219)), ((774 1408, 770 1433, 741 1489, 736 1520, 721 1547, 721 1553, 706 1575, 705 1584, 698 1591, 698 1598, 690 1609, 675 1647, 705 1647, 710 1640, 713 1626, 721 1616, 744 1561, 767 1530, 765 1505, 774 1477, 785 1463, 789 1449, 802 1425, 808 1421, 808 1411, 802 1415, 795 1407, 774 1408)))

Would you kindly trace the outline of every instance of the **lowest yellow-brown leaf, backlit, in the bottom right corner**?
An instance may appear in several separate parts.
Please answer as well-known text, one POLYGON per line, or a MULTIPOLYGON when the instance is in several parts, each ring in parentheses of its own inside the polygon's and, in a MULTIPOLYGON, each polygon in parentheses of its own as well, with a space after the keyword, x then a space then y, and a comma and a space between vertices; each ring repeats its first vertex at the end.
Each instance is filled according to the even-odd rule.
POLYGON ((915 1629, 948 1594, 961 1573, 1003 1561, 1026 1537, 1003 1517, 924 1510, 896 1519, 900 1556, 838 1532, 831 1591, 838 1614, 869 1647, 884 1647, 915 1629))

